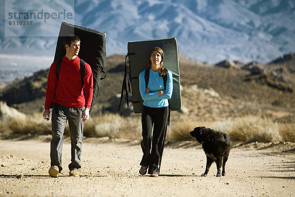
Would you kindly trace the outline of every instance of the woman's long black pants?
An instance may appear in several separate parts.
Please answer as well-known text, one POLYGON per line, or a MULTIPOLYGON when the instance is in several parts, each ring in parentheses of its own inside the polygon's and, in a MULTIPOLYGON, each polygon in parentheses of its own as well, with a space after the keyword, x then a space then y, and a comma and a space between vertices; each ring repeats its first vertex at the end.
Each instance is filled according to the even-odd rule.
POLYGON ((143 106, 141 147, 144 155, 140 165, 148 167, 148 174, 160 173, 167 118, 168 106, 160 108, 143 106))

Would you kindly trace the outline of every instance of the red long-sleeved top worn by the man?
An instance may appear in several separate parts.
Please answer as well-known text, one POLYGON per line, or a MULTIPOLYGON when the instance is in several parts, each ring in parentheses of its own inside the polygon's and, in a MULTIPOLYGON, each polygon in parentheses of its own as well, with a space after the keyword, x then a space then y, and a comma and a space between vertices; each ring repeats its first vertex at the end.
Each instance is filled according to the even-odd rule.
POLYGON ((57 62, 52 63, 48 73, 45 109, 49 109, 52 101, 67 107, 88 107, 90 109, 93 96, 93 78, 89 64, 85 63, 84 88, 81 82, 80 58, 62 59, 57 80, 57 62))

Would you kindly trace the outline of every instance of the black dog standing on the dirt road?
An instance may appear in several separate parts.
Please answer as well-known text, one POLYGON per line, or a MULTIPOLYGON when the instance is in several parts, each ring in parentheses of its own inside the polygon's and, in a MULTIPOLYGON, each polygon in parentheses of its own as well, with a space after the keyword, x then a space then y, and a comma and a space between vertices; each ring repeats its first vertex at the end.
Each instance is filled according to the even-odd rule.
POLYGON ((217 166, 217 174, 219 177, 222 169, 222 176, 225 175, 225 163, 229 158, 232 141, 230 136, 224 132, 218 132, 206 127, 196 127, 194 131, 190 131, 192 137, 196 137, 197 141, 202 144, 203 150, 207 156, 206 170, 201 176, 207 176, 209 168, 213 162, 217 166))

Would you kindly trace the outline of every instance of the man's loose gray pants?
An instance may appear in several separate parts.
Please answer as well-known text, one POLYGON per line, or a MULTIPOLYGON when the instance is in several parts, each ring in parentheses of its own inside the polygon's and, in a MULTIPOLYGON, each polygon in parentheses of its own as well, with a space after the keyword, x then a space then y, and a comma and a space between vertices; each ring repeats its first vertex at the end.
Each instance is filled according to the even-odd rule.
POLYGON ((63 131, 66 122, 69 123, 71 136, 71 163, 69 170, 80 171, 83 138, 83 121, 81 115, 85 107, 66 107, 58 103, 53 104, 52 110, 52 140, 50 143, 51 166, 57 165, 62 170, 61 155, 63 144, 63 131))

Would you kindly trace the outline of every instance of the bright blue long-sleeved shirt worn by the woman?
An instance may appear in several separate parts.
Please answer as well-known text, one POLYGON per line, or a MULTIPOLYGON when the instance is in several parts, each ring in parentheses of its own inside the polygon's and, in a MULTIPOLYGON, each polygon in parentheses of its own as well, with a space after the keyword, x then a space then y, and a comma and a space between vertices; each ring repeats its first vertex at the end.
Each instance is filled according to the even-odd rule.
POLYGON ((148 79, 148 89, 150 93, 146 93, 145 71, 146 70, 139 74, 139 91, 144 100, 143 104, 148 107, 167 107, 169 105, 168 99, 171 99, 173 92, 172 72, 170 70, 167 72, 165 94, 158 96, 158 91, 165 89, 163 77, 159 76, 159 71, 155 72, 150 69, 148 79))

